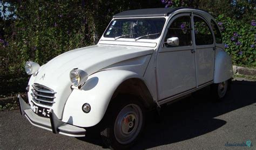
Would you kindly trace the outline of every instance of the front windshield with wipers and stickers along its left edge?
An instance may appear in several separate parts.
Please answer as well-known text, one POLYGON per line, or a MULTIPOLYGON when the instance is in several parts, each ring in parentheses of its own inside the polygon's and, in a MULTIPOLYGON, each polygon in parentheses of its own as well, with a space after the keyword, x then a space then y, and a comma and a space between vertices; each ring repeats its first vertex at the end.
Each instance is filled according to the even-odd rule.
POLYGON ((133 18, 112 20, 104 33, 105 38, 157 39, 165 18, 133 18))

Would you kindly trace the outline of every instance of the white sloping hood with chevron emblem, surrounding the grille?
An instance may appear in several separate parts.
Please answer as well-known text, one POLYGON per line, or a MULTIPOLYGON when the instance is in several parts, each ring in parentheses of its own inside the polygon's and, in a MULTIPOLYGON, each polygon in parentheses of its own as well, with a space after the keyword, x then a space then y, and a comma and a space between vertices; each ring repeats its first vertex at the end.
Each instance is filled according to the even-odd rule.
MULTIPOLYGON (((115 63, 152 53, 153 48, 149 47, 95 45, 78 48, 63 53, 43 65, 36 76, 32 75, 29 83, 38 83, 56 92, 55 103, 51 108, 61 118, 66 99, 72 92, 69 73, 73 68, 82 69, 91 75, 115 63)), ((28 96, 32 99, 30 94, 31 90, 28 96)))

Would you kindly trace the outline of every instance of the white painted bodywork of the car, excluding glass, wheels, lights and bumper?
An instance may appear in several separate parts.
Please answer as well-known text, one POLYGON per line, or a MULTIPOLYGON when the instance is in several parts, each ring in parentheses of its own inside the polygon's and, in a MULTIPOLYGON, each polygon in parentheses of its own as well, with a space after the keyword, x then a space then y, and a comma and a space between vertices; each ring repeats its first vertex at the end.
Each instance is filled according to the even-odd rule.
MULTIPOLYGON (((105 38, 95 46, 78 48, 57 56, 41 66, 37 75, 30 77, 29 85, 38 83, 53 89, 55 103, 51 108, 64 123, 79 127, 97 125, 118 85, 129 78, 140 78, 149 89, 154 101, 170 102, 173 96, 188 94, 200 85, 220 83, 232 77, 232 62, 223 44, 190 47, 162 47, 166 28, 180 13, 202 15, 208 22, 208 13, 181 9, 166 19, 164 30, 157 39, 105 38), (216 46, 216 51, 212 48, 216 46), (191 53, 194 49, 196 53, 191 53), (81 89, 71 88, 69 73, 73 68, 84 70, 89 78, 81 89), (186 92, 185 92, 186 91, 186 92), (84 113, 82 105, 89 103, 91 111, 84 113)), ((145 17, 154 18, 154 17, 145 17)), ((31 86, 28 92, 32 103, 31 86)))

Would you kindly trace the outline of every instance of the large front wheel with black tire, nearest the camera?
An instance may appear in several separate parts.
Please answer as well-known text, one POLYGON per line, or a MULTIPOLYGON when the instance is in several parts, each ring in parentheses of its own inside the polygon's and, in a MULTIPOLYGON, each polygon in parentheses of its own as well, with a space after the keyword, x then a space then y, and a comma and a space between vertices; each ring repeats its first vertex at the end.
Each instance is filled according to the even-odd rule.
POLYGON ((140 137, 145 123, 145 109, 139 99, 114 99, 107 109, 100 136, 111 149, 128 149, 140 137))

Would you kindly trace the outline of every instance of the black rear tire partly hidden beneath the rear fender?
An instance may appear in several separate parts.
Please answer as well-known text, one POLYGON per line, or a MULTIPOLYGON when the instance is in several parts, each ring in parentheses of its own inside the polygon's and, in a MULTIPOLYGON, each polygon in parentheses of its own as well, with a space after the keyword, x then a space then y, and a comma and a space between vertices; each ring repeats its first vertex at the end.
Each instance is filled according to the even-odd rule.
POLYGON ((214 83, 211 85, 211 95, 214 101, 223 101, 230 89, 230 80, 226 80, 220 83, 214 83))

